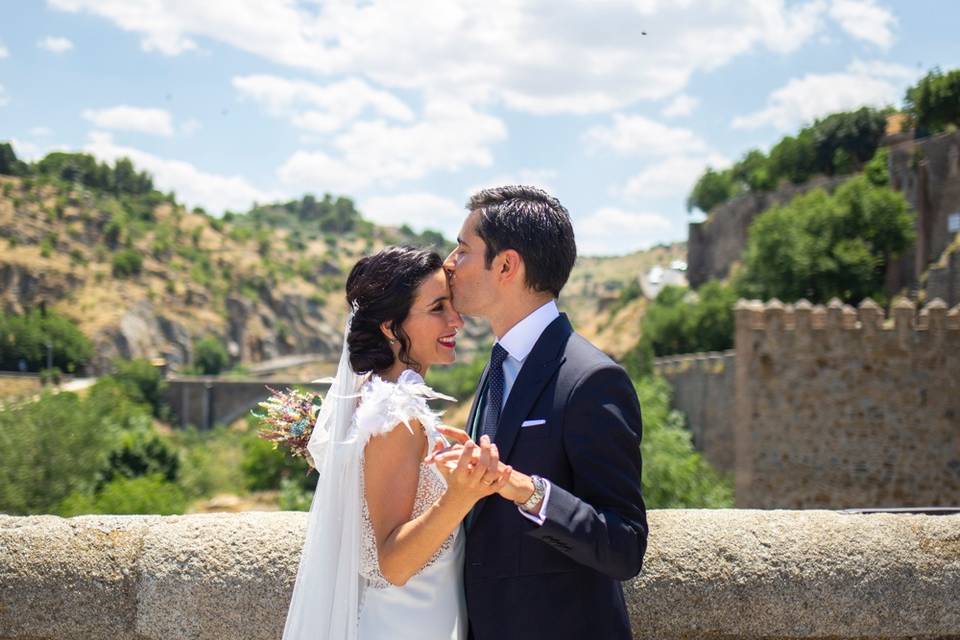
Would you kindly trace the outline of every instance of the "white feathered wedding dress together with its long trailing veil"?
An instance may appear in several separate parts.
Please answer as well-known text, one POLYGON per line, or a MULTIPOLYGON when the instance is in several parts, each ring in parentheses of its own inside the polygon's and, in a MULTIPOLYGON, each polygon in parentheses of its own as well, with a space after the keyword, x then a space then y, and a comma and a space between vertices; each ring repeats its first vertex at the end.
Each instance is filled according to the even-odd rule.
MULTIPOLYGON (((391 585, 380 572, 363 491, 363 451, 370 438, 410 428, 416 420, 429 450, 441 437, 439 413, 427 404, 437 398, 453 400, 414 371, 404 371, 396 383, 354 374, 344 346, 308 445, 320 476, 284 640, 466 639, 462 525, 403 586, 391 585)), ((445 489, 443 476, 421 463, 412 516, 445 489)))

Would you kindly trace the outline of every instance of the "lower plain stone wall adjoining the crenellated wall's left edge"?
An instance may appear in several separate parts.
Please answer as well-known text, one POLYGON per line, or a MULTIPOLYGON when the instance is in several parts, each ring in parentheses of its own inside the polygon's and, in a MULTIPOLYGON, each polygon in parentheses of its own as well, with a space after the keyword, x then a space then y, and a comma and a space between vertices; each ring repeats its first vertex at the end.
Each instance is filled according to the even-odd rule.
POLYGON ((673 387, 671 404, 683 412, 697 450, 716 469, 733 473, 736 352, 657 358, 654 369, 673 387))

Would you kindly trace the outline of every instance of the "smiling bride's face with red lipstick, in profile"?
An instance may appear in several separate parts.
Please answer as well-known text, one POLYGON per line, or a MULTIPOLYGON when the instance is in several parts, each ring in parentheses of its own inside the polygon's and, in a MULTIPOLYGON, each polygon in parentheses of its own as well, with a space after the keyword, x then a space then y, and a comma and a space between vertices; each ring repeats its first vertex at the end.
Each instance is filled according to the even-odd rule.
POLYGON ((434 364, 456 360, 457 331, 463 318, 450 301, 450 286, 443 269, 428 276, 417 289, 403 331, 410 340, 410 358, 423 372, 434 364))

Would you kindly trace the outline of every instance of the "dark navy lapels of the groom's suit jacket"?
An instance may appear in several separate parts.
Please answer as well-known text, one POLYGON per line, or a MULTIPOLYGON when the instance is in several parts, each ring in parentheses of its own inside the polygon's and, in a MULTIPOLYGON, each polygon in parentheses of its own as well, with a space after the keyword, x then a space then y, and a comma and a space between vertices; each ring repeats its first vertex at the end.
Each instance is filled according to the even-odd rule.
MULTIPOLYGON (((520 373, 510 389, 507 404, 503 407, 500 422, 497 425, 497 435, 494 442, 500 452, 500 460, 507 461, 509 459, 513 443, 520 431, 520 424, 530 413, 530 409, 537 398, 540 397, 544 386, 563 362, 564 347, 571 333, 573 333, 573 327, 570 325, 566 314, 561 313, 560 317, 551 322, 540 334, 540 338, 533 346, 530 355, 523 362, 523 367, 521 367, 520 373)), ((486 372, 484 372, 481 385, 485 381, 486 372)), ((475 409, 476 407, 474 407, 475 409)), ((471 416, 472 413, 471 411, 471 416)), ((477 517, 483 511, 483 507, 486 506, 489 499, 489 497, 483 498, 474 506, 468 521, 471 527, 477 521, 477 517)))

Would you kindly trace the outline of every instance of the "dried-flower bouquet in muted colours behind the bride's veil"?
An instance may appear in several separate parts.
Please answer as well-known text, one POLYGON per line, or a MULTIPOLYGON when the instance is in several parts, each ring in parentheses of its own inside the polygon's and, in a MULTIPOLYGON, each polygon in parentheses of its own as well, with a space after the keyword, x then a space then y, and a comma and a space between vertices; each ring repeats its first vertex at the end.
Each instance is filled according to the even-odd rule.
POLYGON ((270 389, 270 397, 257 403, 263 407, 264 413, 253 413, 260 418, 257 435, 273 442, 274 449, 285 446, 294 456, 303 458, 315 468, 307 443, 320 411, 320 395, 297 389, 267 389, 270 389))

